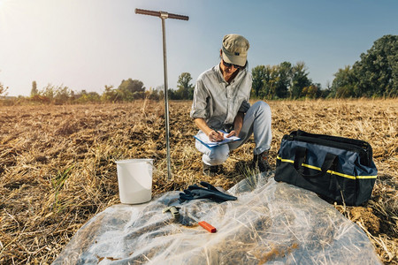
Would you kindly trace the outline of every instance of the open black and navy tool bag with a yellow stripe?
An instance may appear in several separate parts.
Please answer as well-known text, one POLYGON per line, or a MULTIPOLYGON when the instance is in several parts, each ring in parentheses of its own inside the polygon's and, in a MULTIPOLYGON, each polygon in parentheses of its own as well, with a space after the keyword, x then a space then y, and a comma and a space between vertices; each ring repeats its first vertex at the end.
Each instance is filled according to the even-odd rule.
POLYGON ((366 141, 295 131, 283 136, 275 180, 358 206, 371 198, 377 173, 366 141))

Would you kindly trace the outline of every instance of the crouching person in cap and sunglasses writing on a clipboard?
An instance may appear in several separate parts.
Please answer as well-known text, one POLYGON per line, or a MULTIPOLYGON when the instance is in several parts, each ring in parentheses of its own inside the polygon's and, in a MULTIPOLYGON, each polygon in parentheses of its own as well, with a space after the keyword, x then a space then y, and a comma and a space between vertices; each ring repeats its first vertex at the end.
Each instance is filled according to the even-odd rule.
POLYGON ((271 148, 271 109, 266 102, 249 104, 252 84, 248 71, 249 41, 239 34, 227 34, 220 49, 220 62, 203 72, 196 81, 190 116, 210 141, 238 136, 241 140, 215 148, 207 148, 199 140, 195 147, 203 153, 203 173, 215 176, 222 173, 222 163, 229 152, 239 148, 254 134, 256 148, 253 165, 260 171, 270 170, 268 152, 271 148))

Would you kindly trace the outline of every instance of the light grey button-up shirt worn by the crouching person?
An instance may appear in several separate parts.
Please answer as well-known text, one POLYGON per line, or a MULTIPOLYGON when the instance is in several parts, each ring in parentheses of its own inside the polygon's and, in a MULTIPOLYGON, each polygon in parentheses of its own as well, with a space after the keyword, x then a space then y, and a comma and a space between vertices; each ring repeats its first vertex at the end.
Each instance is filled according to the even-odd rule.
POLYGON ((240 70, 230 84, 219 64, 203 72, 196 81, 191 117, 202 117, 215 129, 233 125, 238 111, 246 113, 250 108, 251 83, 251 73, 246 69, 240 70))

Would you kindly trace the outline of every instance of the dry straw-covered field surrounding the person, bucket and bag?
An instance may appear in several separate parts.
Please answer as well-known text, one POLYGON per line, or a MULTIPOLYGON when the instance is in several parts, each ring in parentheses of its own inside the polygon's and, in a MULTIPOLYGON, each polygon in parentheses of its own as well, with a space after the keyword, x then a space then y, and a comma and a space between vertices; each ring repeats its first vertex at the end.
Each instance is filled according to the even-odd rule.
MULTIPOLYGON (((283 134, 301 129, 366 140, 379 170, 364 207, 334 205, 360 225, 385 264, 398 264, 398 100, 272 101, 275 163, 283 134)), ((164 102, 0 107, 0 263, 50 264, 92 216, 119 203, 116 160, 153 158, 153 193, 200 180, 227 189, 245 174, 249 141, 226 173, 202 174, 191 102, 170 102, 167 180, 164 102)))

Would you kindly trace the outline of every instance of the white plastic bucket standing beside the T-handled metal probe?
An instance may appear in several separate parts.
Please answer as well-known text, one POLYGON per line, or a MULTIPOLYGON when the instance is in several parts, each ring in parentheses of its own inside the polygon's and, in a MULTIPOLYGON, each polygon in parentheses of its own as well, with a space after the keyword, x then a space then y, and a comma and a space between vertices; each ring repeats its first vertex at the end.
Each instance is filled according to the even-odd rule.
POLYGON ((153 159, 116 161, 121 203, 136 204, 152 199, 153 159))

